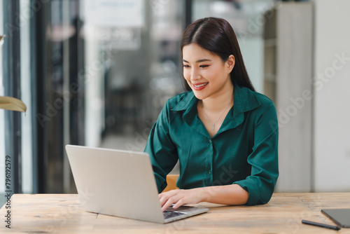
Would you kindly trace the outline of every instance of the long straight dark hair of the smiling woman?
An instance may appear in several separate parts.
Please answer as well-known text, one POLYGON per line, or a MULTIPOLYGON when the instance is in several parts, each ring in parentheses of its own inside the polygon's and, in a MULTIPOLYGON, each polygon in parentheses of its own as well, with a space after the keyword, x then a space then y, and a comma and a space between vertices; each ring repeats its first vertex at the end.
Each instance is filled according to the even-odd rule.
MULTIPOLYGON (((183 32, 181 53, 183 47, 190 43, 197 43, 205 50, 220 56, 223 62, 227 61, 230 55, 235 56, 235 67, 230 73, 232 83, 255 91, 246 72, 236 34, 229 22, 213 17, 196 20, 183 32)), ((191 90, 185 80, 183 80, 183 84, 186 90, 191 90)))

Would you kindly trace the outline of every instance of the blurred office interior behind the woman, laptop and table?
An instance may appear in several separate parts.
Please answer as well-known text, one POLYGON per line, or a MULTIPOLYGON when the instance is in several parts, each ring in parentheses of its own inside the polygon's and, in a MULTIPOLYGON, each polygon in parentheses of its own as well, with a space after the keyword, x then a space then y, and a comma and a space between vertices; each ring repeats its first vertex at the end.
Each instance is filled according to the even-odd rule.
MULTIPOLYGON (((225 18, 258 92, 276 104, 276 192, 350 191, 350 1, 0 0, 0 205, 13 193, 76 193, 64 146, 144 151, 183 92, 183 30, 225 18)), ((275 124, 275 123, 272 123, 275 124)), ((177 167, 173 173, 179 173, 177 167)))

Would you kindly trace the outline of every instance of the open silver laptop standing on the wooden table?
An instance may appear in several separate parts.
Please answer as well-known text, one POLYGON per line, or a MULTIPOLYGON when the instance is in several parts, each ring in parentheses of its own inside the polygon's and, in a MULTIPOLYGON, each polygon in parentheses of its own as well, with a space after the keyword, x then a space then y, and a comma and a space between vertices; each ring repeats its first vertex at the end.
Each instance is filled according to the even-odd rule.
POLYGON ((66 145, 79 199, 87 212, 169 223, 202 214, 204 207, 162 212, 147 153, 66 145))

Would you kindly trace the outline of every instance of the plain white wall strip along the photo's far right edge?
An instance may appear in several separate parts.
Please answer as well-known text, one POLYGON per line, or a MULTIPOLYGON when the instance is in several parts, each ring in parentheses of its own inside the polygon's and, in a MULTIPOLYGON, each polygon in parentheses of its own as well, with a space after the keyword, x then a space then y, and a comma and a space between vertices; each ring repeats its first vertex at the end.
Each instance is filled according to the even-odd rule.
POLYGON ((349 192, 350 1, 314 5, 314 188, 349 192))

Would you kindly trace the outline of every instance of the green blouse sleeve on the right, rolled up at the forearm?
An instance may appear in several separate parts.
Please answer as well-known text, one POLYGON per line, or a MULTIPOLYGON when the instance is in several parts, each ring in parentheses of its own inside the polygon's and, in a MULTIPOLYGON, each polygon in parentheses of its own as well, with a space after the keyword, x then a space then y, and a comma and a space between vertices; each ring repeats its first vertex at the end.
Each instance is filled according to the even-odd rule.
POLYGON ((234 183, 248 191, 246 205, 265 204, 272 197, 279 176, 278 135, 276 108, 270 101, 255 116, 254 146, 247 158, 251 175, 234 183))

